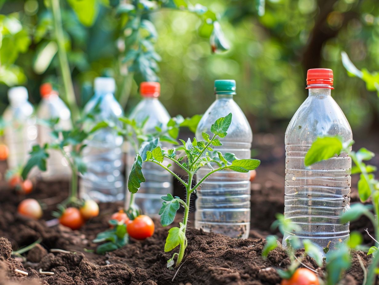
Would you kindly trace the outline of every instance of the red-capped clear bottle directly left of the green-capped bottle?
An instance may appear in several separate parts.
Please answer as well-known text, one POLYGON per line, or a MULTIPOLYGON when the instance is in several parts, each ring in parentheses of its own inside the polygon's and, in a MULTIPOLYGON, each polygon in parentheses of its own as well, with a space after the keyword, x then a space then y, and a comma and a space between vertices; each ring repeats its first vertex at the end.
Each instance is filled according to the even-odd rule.
MULTIPOLYGON (((157 132, 156 126, 160 126, 164 131, 171 117, 158 99, 160 84, 158 82, 143 82, 140 86, 140 93, 143 99, 137 104, 129 118, 136 120, 137 123, 142 123, 148 118, 143 127, 144 134, 157 132)), ((163 142, 161 144, 162 148, 170 147, 168 143, 163 142)), ((129 143, 127 162, 129 171, 127 173, 130 172, 134 157, 135 150, 129 143)), ((163 164, 168 165, 169 162, 164 160, 163 164)), ((141 184, 141 188, 135 194, 135 203, 143 213, 150 216, 158 215, 159 209, 162 207, 161 196, 173 193, 172 176, 159 165, 153 163, 143 164, 142 172, 146 182, 141 184)))

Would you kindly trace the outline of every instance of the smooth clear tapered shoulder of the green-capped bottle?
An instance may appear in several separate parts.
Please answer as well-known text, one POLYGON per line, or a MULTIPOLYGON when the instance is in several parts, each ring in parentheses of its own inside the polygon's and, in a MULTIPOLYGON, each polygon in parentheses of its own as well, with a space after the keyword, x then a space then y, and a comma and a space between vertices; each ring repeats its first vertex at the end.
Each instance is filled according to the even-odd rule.
POLYGON ((238 141, 251 143, 253 134, 250 124, 240 106, 230 99, 218 99, 211 104, 197 125, 196 137, 200 139, 202 132, 211 134, 211 125, 218 118, 225 117, 229 113, 232 113, 232 122, 227 131, 228 135, 220 140, 224 142, 238 141))

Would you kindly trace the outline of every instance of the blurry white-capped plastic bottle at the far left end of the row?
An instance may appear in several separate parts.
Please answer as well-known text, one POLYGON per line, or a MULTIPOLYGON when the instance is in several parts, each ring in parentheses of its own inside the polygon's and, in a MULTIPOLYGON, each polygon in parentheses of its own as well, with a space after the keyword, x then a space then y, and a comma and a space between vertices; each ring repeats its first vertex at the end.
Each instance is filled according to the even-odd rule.
POLYGON ((28 101, 28 90, 23 86, 13 87, 8 91, 8 99, 9 107, 3 119, 6 123, 5 142, 9 148, 8 168, 14 169, 27 162, 38 131, 33 106, 28 101))

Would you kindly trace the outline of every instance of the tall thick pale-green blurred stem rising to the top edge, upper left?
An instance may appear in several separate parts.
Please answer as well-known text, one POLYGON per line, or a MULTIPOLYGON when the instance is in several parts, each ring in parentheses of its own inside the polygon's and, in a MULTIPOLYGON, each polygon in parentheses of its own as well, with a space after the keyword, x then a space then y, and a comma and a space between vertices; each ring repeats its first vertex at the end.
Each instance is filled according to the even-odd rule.
POLYGON ((74 85, 72 84, 70 65, 67 59, 66 49, 64 48, 62 15, 59 0, 51 0, 51 7, 53 11, 54 33, 56 43, 58 45, 59 67, 61 70, 64 86, 64 94, 62 94, 62 97, 66 101, 71 111, 71 120, 74 123, 79 118, 79 109, 75 99, 74 85))

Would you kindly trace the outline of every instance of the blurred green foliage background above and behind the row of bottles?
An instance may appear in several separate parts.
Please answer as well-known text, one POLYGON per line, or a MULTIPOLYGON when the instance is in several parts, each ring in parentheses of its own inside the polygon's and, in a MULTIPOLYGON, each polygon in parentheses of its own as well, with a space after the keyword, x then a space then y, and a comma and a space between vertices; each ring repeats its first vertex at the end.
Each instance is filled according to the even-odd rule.
MULTIPOLYGON (((117 16, 110 5, 114 1, 86 0, 95 9, 81 9, 81 15, 72 8, 75 1, 61 1, 61 12, 78 102, 83 106, 91 97, 96 76, 114 76, 117 97, 130 93, 122 99, 129 98, 128 114, 139 100, 141 78, 120 75, 120 70, 125 74, 128 69, 120 64, 120 35, 127 20, 117 16), (83 24, 83 19, 91 17, 93 24, 83 24)), ((54 35, 48 2, 0 1, 0 112, 8 104, 6 93, 11 86, 27 86, 30 101, 36 105, 41 83, 50 81, 63 91, 58 56, 50 44, 54 35)), ((259 11, 262 1, 192 2, 219 15, 229 51, 211 53, 209 38, 199 35, 201 20, 194 13, 162 8, 143 16, 158 33, 154 44, 161 56, 157 70, 161 101, 172 116, 203 113, 214 100, 213 81, 235 79, 235 100, 253 132, 283 133, 307 96, 307 69, 326 67, 334 71, 332 95, 354 132, 377 131, 377 93, 349 76, 341 61, 341 51, 346 51, 359 69, 379 70, 377 0, 267 0, 264 13, 259 11)))

